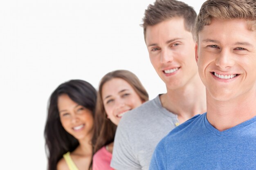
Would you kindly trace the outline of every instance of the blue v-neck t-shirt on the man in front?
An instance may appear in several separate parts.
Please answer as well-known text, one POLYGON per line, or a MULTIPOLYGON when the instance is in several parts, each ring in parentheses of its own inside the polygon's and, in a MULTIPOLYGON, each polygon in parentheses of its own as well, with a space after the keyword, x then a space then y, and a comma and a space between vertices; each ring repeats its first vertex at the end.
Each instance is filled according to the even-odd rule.
POLYGON ((256 170, 256 117, 219 131, 196 115, 157 145, 150 170, 256 170))

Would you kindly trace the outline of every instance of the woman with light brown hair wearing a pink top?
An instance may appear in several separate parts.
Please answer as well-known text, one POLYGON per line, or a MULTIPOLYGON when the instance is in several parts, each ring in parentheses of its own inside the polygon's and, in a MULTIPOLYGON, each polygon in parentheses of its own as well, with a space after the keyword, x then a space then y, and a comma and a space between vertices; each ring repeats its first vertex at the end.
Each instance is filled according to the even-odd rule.
POLYGON ((117 125, 125 113, 146 101, 148 93, 130 71, 112 71, 101 79, 92 139, 95 153, 92 170, 112 170, 110 161, 117 125))

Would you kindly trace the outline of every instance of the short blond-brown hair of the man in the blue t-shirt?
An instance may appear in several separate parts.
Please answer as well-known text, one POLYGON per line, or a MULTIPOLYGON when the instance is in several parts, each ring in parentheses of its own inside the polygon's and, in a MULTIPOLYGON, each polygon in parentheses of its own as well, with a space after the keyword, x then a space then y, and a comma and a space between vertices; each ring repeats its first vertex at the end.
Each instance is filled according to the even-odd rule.
POLYGON ((252 30, 256 24, 255 0, 207 0, 202 4, 195 23, 195 32, 202 31, 205 25, 211 24, 211 19, 231 20, 245 19, 248 29, 252 30))

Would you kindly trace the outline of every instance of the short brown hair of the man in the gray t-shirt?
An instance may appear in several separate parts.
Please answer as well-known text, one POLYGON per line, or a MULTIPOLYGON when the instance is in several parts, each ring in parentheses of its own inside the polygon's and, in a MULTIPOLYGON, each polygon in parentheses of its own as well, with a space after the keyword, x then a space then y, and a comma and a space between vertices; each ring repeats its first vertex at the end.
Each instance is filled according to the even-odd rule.
POLYGON ((144 39, 146 39, 147 26, 153 26, 174 17, 184 18, 184 28, 192 33, 195 40, 196 12, 193 7, 177 0, 156 0, 153 5, 148 5, 143 24, 141 24, 144 29, 144 39))

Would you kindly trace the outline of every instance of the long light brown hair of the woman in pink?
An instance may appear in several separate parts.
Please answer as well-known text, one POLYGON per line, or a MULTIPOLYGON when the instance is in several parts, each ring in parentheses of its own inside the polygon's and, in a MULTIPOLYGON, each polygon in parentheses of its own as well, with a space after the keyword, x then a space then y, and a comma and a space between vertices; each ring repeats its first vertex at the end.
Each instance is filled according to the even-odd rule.
POLYGON ((127 70, 112 71, 104 75, 99 84, 97 102, 94 118, 94 136, 92 138, 93 151, 96 153, 101 147, 114 141, 117 126, 107 118, 107 114, 102 101, 102 87, 113 78, 124 79, 134 91, 139 95, 142 102, 148 101, 148 93, 142 86, 138 77, 127 70))

